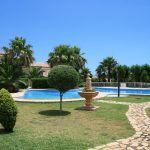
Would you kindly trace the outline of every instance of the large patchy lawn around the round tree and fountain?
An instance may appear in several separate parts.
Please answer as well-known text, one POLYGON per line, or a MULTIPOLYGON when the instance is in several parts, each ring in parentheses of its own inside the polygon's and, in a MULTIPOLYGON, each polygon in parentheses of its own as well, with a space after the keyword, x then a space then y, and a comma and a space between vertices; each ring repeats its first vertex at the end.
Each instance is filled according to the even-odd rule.
POLYGON ((96 111, 75 108, 83 102, 17 103, 18 118, 13 133, 0 126, 1 150, 84 150, 134 134, 125 113, 128 106, 102 104, 96 111))

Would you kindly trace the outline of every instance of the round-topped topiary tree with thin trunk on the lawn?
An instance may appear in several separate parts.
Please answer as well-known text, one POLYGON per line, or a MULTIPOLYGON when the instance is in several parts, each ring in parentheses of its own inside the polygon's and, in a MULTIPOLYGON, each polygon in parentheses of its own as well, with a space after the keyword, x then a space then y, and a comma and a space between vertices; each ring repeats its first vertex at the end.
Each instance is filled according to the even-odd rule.
POLYGON ((62 110, 63 94, 79 83, 79 74, 71 66, 58 65, 52 68, 48 76, 49 84, 60 92, 60 110, 62 110))

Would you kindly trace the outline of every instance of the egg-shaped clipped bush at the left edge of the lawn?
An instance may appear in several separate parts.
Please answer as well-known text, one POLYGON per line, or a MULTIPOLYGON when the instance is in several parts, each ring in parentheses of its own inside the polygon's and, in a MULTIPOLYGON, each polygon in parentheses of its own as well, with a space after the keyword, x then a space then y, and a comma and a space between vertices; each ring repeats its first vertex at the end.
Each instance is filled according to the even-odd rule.
POLYGON ((16 123, 17 107, 6 89, 0 90, 0 123, 7 132, 12 132, 16 123))

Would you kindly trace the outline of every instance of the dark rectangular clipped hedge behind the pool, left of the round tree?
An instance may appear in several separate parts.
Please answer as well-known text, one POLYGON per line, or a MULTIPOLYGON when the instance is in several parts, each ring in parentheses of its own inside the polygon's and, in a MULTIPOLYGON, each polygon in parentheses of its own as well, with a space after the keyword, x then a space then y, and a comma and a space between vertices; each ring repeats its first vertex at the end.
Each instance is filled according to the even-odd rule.
POLYGON ((32 78, 32 88, 34 89, 45 89, 50 88, 48 84, 48 78, 32 78))

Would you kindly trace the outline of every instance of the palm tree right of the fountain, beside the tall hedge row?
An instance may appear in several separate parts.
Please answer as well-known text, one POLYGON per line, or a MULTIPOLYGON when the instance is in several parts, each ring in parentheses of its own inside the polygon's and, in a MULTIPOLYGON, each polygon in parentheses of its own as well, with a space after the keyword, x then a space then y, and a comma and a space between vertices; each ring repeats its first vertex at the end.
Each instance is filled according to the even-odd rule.
POLYGON ((96 72, 99 78, 105 78, 110 82, 112 78, 113 69, 116 67, 117 61, 113 57, 107 57, 100 62, 97 67, 96 72))

